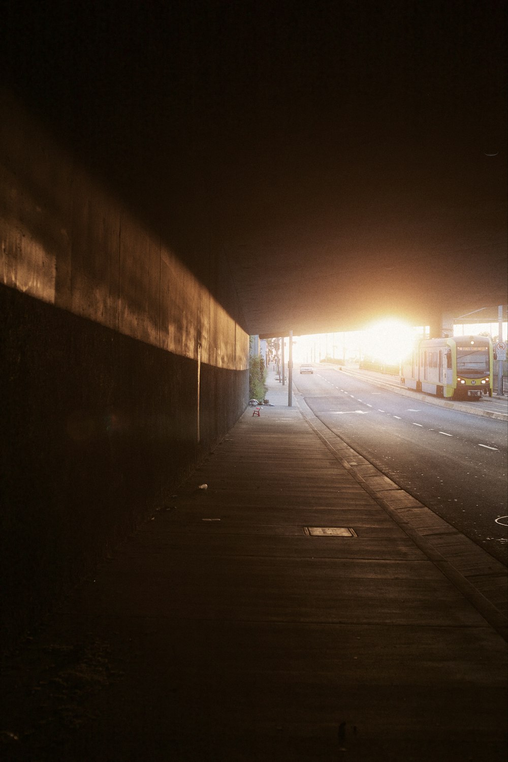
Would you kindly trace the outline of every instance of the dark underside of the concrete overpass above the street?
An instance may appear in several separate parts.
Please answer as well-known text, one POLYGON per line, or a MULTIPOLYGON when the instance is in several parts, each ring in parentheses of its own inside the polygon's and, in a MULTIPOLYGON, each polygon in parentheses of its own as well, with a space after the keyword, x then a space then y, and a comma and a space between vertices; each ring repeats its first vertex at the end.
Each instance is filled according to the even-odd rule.
POLYGON ((505 11, 20 0, 2 71, 249 332, 423 323, 506 303, 505 11))

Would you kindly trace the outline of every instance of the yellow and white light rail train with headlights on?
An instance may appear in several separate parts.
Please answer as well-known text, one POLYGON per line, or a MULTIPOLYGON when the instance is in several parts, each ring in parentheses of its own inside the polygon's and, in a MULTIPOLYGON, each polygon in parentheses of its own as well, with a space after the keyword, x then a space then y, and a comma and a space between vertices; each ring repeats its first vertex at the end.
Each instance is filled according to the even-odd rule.
POLYGON ((423 339, 401 363, 401 385, 446 399, 491 397, 493 360, 487 336, 423 339))

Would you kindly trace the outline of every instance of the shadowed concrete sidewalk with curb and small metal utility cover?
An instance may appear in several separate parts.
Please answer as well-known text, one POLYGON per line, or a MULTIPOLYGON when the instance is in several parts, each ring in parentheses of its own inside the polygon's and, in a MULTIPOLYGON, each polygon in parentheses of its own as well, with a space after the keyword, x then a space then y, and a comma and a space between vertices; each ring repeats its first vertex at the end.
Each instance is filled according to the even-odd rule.
POLYGON ((2 759, 506 758, 506 568, 269 386, 8 660, 2 759))

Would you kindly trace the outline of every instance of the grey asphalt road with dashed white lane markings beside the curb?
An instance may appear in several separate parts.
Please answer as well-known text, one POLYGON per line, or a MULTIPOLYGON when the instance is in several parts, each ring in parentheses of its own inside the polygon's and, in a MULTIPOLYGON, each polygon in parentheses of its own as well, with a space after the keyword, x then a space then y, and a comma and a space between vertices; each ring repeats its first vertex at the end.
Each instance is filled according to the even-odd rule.
MULTIPOLYGON (((506 423, 421 402, 332 368, 294 383, 334 433, 507 564, 506 423)), ((481 402, 471 402, 481 405, 481 402)))

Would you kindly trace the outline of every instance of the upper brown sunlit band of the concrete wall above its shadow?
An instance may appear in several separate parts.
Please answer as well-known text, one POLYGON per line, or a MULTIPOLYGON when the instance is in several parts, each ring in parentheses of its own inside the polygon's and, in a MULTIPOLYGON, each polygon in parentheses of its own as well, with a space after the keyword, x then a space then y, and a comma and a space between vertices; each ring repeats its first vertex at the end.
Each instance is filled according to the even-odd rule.
POLYGON ((8 94, 0 95, 2 282, 125 335, 229 370, 248 335, 177 254, 8 94))

